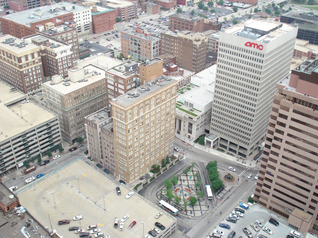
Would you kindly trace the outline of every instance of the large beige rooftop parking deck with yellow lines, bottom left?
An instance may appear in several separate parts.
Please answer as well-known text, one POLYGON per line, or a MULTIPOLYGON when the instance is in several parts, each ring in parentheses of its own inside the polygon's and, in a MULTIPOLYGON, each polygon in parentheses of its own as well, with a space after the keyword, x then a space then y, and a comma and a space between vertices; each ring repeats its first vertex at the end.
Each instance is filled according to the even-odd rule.
POLYGON ((104 235, 110 237, 143 238, 143 226, 147 234, 156 221, 166 227, 176 222, 175 217, 137 193, 126 199, 125 196, 131 190, 114 181, 115 179, 114 175, 107 175, 102 169, 92 167, 79 158, 60 169, 58 173, 52 172, 35 180, 35 190, 33 184, 27 184, 19 189, 17 195, 24 208, 44 226, 51 227, 49 214, 52 228, 56 229, 57 234, 67 238, 79 237, 78 234, 68 231, 72 226, 87 231, 89 225, 96 224, 104 235), (117 195, 116 187, 120 187, 121 195, 117 195), (162 212, 163 215, 155 219, 158 212, 162 212), (73 217, 79 213, 83 219, 73 221, 73 217), (129 218, 125 221, 124 230, 115 229, 114 219, 120 220, 126 214, 129 218), (59 226, 58 221, 63 219, 71 220, 70 224, 59 226), (132 221, 136 221, 137 224, 129 228, 132 221))

